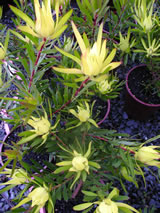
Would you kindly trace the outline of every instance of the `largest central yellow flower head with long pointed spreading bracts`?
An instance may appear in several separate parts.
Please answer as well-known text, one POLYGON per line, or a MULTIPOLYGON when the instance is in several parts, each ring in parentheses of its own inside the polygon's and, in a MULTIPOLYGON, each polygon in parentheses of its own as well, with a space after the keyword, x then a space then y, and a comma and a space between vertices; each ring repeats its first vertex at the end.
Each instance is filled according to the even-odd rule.
POLYGON ((58 47, 56 47, 56 49, 78 63, 80 69, 53 67, 54 70, 66 74, 83 74, 86 77, 90 77, 91 80, 100 81, 106 78, 106 72, 115 69, 121 64, 121 62, 112 62, 116 54, 116 49, 113 49, 107 56, 108 49, 106 48, 106 40, 102 41, 103 24, 99 27, 97 41, 93 44, 93 47, 90 46, 88 39, 87 44, 84 42, 73 22, 72 28, 81 50, 81 59, 66 53, 58 47))

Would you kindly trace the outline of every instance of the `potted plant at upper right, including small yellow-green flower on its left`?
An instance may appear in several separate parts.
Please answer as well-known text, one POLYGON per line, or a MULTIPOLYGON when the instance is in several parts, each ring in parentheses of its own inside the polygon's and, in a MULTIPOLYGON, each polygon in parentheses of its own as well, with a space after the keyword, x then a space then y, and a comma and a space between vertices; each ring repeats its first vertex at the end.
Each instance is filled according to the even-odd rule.
MULTIPOLYGON (((138 58, 139 62, 145 63, 151 74, 145 84, 146 92, 160 96, 160 39, 157 36, 160 32, 159 12, 155 0, 136 0, 131 8, 133 20, 132 29, 122 29, 119 32, 119 44, 115 45, 125 55, 125 64, 128 63, 128 56, 138 58)), ((158 7, 159 8, 159 7, 158 7)))

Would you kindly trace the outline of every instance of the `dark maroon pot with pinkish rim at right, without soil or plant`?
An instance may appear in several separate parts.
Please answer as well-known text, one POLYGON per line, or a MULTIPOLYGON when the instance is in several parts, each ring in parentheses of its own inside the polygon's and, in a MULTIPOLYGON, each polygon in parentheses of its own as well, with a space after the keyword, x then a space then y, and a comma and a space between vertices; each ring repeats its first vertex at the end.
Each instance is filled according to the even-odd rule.
POLYGON ((135 120, 147 120, 155 111, 160 109, 160 104, 149 104, 141 101, 131 92, 129 88, 130 75, 133 72, 140 72, 140 68, 146 67, 145 64, 141 64, 133 67, 129 70, 126 76, 126 105, 125 111, 128 116, 135 120))

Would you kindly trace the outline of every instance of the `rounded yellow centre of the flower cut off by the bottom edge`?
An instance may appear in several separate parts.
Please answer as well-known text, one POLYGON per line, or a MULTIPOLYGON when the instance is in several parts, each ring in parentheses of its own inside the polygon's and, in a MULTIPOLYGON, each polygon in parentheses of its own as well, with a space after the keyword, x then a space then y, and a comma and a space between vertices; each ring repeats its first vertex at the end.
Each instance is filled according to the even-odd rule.
POLYGON ((118 213, 118 207, 111 199, 104 199, 96 209, 96 213, 118 213))

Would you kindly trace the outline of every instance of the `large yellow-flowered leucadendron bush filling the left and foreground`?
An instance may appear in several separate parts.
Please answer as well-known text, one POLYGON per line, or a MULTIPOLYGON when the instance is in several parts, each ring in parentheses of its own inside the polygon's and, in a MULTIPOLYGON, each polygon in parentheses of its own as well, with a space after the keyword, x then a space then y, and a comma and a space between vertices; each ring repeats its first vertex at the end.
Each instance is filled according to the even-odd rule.
MULTIPOLYGON (((139 212, 126 204, 128 197, 120 196, 113 183, 119 181, 125 193, 125 180, 138 188, 137 175, 145 182, 141 167, 159 167, 159 146, 141 146, 127 134, 101 128, 97 97, 114 98, 122 85, 116 75, 122 62, 114 45, 108 46, 112 38, 103 38, 102 16, 90 38, 79 30, 83 23, 71 16, 70 1, 15 2, 17 7, 10 8, 17 15, 16 26, 8 31, 4 27, 5 39, 0 37, 0 106, 3 120, 12 124, 13 132, 20 131, 9 148, 2 142, 0 173, 9 180, 1 183, 5 187, 0 193, 24 185, 10 211, 37 213, 46 208, 54 213, 57 200, 74 199, 82 191, 84 203, 75 211, 139 212), (45 159, 26 162, 31 153, 45 159)), ((88 8, 92 18, 102 15, 109 9, 102 2, 108 1, 77 1, 83 6, 79 12, 88 8)), ((125 1, 119 3, 124 6, 125 1)), ((129 40, 130 32, 121 36, 119 47, 130 51, 129 40)))

